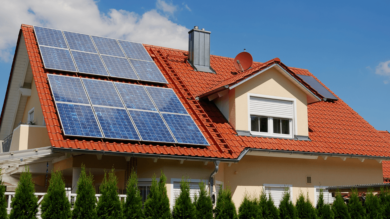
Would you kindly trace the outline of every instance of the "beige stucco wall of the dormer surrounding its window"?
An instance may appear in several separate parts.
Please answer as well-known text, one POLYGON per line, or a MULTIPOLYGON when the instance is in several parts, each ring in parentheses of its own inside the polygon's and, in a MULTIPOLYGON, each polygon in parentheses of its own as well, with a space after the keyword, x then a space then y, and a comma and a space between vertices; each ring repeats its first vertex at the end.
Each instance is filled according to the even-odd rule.
POLYGON ((294 133, 308 136, 307 95, 275 68, 262 72, 229 91, 229 122, 237 130, 249 131, 248 93, 296 99, 298 130, 294 133))

